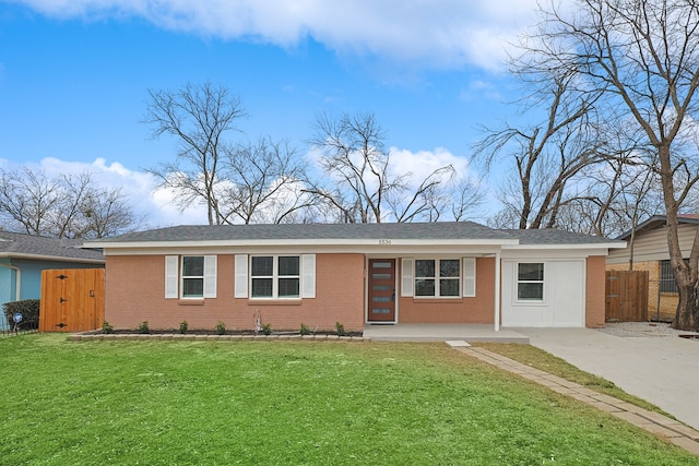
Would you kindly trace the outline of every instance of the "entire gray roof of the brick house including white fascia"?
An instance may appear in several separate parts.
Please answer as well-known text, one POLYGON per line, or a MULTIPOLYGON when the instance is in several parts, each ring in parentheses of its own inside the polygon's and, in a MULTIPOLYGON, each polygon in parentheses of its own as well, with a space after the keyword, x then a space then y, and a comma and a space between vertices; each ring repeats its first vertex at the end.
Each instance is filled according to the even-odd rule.
POLYGON ((502 247, 596 247, 618 248, 624 243, 556 229, 505 230, 473 222, 400 224, 280 224, 280 225, 189 225, 137 231, 96 240, 99 248, 132 248, 194 244, 375 244, 390 239, 395 243, 488 244, 502 247))

